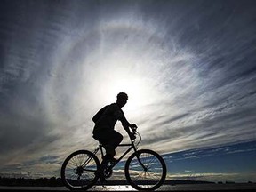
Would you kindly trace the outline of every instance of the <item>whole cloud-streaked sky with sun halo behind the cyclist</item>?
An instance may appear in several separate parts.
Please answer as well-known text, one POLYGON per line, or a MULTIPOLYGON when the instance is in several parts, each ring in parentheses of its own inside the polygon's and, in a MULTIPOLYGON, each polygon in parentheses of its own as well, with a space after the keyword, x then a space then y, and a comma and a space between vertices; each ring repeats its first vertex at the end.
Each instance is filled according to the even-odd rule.
MULTIPOLYGON (((96 147, 92 116, 127 92, 140 148, 180 164, 177 177, 256 181, 253 0, 0 4, 1 175, 60 176, 68 154, 96 147), (212 153, 226 159, 221 169, 183 156, 201 151, 206 164, 216 148, 236 151, 212 153), (228 170, 233 160, 239 169, 228 170)), ((127 141, 120 123, 116 131, 127 141)))

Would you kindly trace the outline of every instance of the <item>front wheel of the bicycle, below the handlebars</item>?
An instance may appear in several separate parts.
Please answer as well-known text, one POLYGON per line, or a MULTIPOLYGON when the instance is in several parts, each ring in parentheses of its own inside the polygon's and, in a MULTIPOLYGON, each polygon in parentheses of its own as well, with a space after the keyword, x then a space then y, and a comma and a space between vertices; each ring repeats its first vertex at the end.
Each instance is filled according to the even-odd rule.
POLYGON ((149 149, 134 152, 126 161, 125 177, 132 188, 155 190, 166 177, 166 165, 162 156, 149 149))

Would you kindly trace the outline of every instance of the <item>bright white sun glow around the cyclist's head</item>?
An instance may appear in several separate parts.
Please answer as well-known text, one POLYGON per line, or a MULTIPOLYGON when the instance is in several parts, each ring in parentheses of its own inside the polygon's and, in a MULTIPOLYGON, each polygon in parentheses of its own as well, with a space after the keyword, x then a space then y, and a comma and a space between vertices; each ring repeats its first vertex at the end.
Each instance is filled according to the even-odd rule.
POLYGON ((92 92, 100 95, 100 99, 92 100, 100 106, 115 102, 118 92, 126 92, 128 102, 124 110, 134 114, 142 106, 159 99, 157 79, 151 76, 152 73, 157 73, 157 70, 152 72, 154 67, 148 66, 148 63, 151 63, 150 57, 140 60, 140 55, 136 52, 127 52, 120 48, 97 58, 96 63, 103 64, 96 68, 97 70, 92 68, 91 76, 97 76, 97 81, 92 80, 92 92))

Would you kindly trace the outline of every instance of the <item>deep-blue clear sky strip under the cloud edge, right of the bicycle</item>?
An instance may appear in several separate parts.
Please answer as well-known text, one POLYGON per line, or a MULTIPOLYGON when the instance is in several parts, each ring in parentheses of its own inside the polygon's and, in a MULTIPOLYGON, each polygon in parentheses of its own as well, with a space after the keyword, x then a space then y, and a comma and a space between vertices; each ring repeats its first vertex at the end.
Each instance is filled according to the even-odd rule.
POLYGON ((254 152, 252 141, 165 154, 164 161, 169 176, 177 179, 247 182, 255 179, 254 152))

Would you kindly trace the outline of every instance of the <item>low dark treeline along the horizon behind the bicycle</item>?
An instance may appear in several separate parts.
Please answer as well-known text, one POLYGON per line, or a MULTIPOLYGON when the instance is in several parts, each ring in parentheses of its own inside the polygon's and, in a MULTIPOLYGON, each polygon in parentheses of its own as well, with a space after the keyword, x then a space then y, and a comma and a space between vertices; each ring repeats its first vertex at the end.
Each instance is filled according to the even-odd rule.
MULTIPOLYGON (((204 184, 213 183, 200 180, 165 180, 165 185, 177 184, 204 184)), ((100 183, 97 183, 100 184, 100 183)), ((126 180, 108 180, 108 185, 128 185, 126 180)), ((61 187, 64 186, 60 178, 4 178, 0 177, 0 186, 30 186, 30 187, 61 187)))

